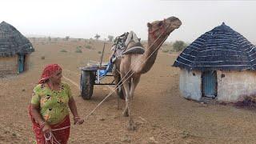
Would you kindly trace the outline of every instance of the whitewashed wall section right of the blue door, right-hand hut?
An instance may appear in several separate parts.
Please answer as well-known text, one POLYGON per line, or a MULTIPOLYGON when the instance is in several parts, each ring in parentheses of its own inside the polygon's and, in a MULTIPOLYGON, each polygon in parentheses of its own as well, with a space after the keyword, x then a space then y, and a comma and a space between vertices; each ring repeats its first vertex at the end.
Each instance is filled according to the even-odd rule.
POLYGON ((217 71, 218 101, 237 102, 244 96, 256 95, 256 72, 217 71), (224 78, 222 74, 225 75, 224 78))

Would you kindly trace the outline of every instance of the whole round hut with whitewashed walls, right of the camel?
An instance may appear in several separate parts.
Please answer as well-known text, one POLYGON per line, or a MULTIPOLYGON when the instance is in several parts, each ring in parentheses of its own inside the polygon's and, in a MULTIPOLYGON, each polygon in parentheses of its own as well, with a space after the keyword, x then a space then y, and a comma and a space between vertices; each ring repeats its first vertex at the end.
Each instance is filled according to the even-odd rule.
POLYGON ((185 98, 240 102, 256 95, 256 49, 226 26, 202 34, 178 56, 179 87, 185 98))

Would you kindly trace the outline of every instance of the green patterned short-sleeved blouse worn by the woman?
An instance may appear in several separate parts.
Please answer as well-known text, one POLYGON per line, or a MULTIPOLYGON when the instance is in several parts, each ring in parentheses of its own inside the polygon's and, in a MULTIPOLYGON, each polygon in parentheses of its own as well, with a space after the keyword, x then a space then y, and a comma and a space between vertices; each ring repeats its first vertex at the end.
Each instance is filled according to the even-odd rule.
POLYGON ((42 118, 50 125, 62 122, 69 114, 68 102, 72 98, 70 86, 61 83, 60 90, 50 90, 46 84, 34 87, 31 103, 40 107, 42 118))

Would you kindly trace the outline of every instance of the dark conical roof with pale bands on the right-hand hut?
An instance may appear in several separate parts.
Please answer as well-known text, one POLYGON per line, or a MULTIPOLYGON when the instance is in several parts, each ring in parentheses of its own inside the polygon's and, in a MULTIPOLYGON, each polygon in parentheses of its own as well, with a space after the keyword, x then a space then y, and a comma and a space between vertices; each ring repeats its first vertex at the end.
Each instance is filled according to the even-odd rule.
POLYGON ((187 70, 256 70, 256 48, 222 23, 187 46, 173 66, 187 70))

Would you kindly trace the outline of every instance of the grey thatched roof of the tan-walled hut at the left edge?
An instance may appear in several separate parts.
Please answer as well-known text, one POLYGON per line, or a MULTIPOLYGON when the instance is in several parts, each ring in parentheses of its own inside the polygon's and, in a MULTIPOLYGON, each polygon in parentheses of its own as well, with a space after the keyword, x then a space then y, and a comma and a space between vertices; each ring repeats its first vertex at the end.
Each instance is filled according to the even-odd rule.
POLYGON ((14 26, 6 22, 0 23, 0 57, 14 54, 30 54, 34 48, 14 26))

